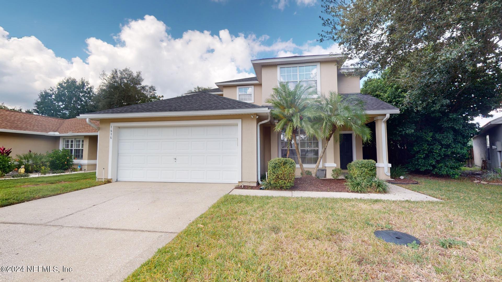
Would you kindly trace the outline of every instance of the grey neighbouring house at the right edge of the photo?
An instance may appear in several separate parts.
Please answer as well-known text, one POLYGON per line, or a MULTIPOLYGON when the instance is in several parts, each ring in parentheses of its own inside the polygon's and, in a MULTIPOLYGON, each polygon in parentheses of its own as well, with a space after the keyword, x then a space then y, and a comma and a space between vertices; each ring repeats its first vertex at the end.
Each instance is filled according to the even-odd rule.
POLYGON ((481 167, 484 160, 488 169, 500 168, 500 152, 502 151, 502 117, 494 118, 479 128, 472 138, 474 165, 481 167))

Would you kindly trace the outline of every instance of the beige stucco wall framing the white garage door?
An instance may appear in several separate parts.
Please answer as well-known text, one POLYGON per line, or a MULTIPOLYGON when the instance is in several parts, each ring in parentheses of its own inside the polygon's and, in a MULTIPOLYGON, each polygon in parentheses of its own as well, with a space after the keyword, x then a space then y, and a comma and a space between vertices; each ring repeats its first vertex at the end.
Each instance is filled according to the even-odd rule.
POLYGON ((99 124, 99 144, 97 161, 97 178, 108 175, 108 148, 110 141, 110 122, 138 122, 138 121, 173 121, 173 120, 207 120, 207 119, 241 119, 242 128, 242 182, 257 182, 257 118, 245 115, 211 115, 211 116, 182 116, 158 118, 123 118, 102 119, 99 124))

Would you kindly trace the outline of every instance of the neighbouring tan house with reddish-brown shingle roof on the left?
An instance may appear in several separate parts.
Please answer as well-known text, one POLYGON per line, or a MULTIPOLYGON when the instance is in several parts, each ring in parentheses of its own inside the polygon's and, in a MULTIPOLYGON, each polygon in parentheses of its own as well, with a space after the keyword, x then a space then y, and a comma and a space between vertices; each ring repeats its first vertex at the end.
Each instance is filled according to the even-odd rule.
POLYGON ((46 153, 54 149, 70 150, 76 158, 74 167, 96 170, 97 126, 85 120, 62 119, 13 110, 0 109, 0 146, 12 148, 11 156, 28 153, 46 153))

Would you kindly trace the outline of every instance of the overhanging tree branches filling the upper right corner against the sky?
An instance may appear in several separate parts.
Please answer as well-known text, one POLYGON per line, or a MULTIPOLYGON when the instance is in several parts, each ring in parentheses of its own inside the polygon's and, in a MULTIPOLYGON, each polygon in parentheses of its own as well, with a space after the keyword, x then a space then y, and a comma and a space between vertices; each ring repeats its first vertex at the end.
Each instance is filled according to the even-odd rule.
POLYGON ((323 0, 322 6, 321 41, 339 43, 360 70, 389 71, 417 109, 448 107, 473 117, 500 107, 502 2, 323 0))

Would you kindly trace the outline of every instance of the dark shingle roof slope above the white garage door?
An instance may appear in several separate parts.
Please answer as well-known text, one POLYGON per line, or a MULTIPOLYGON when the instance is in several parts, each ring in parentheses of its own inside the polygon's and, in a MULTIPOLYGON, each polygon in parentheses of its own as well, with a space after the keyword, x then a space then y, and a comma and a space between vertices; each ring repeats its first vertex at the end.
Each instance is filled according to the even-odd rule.
POLYGON ((135 113, 135 112, 159 112, 159 111, 199 111, 199 110, 230 110, 262 108, 261 106, 241 102, 227 97, 218 96, 211 93, 199 93, 197 95, 186 95, 164 99, 155 102, 148 102, 132 106, 125 106, 114 109, 107 109, 97 113, 135 113))

